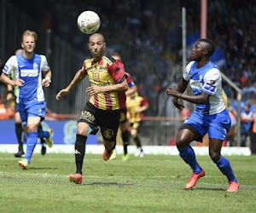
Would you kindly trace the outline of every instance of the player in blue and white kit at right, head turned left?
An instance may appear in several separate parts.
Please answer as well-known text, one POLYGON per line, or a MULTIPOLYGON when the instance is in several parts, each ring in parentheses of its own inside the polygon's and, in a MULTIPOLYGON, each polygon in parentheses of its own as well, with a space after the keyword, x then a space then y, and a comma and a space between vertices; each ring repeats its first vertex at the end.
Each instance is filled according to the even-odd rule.
POLYGON ((183 108, 183 105, 178 101, 179 99, 196 105, 195 111, 184 121, 176 138, 179 155, 193 170, 185 189, 195 187, 196 181, 205 176, 205 171, 197 163, 195 152, 189 143, 202 141, 203 136, 208 133, 209 154, 212 161, 224 176, 227 176, 229 181, 226 192, 237 192, 239 183, 231 169, 230 162, 220 153, 222 143, 230 131, 231 122, 222 98, 220 72, 210 60, 214 49, 211 40, 198 40, 191 52, 192 61, 183 72, 183 78, 179 81, 177 89, 169 87, 166 94, 173 96, 173 104, 178 109, 183 108), (193 89, 193 95, 183 94, 188 84, 193 89))

